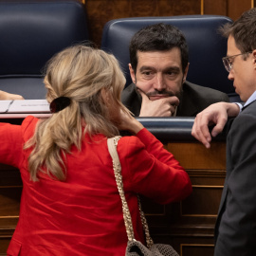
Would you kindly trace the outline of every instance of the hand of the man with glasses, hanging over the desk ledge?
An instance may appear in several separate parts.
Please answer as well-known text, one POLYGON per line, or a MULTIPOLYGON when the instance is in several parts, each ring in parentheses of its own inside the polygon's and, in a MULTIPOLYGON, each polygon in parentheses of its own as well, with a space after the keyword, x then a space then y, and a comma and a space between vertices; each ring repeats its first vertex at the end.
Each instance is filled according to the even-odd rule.
POLYGON ((228 117, 236 117, 240 108, 235 103, 218 102, 211 104, 194 119, 192 136, 210 148, 211 136, 216 137, 223 131, 228 117), (209 125, 215 124, 210 136, 209 125))

